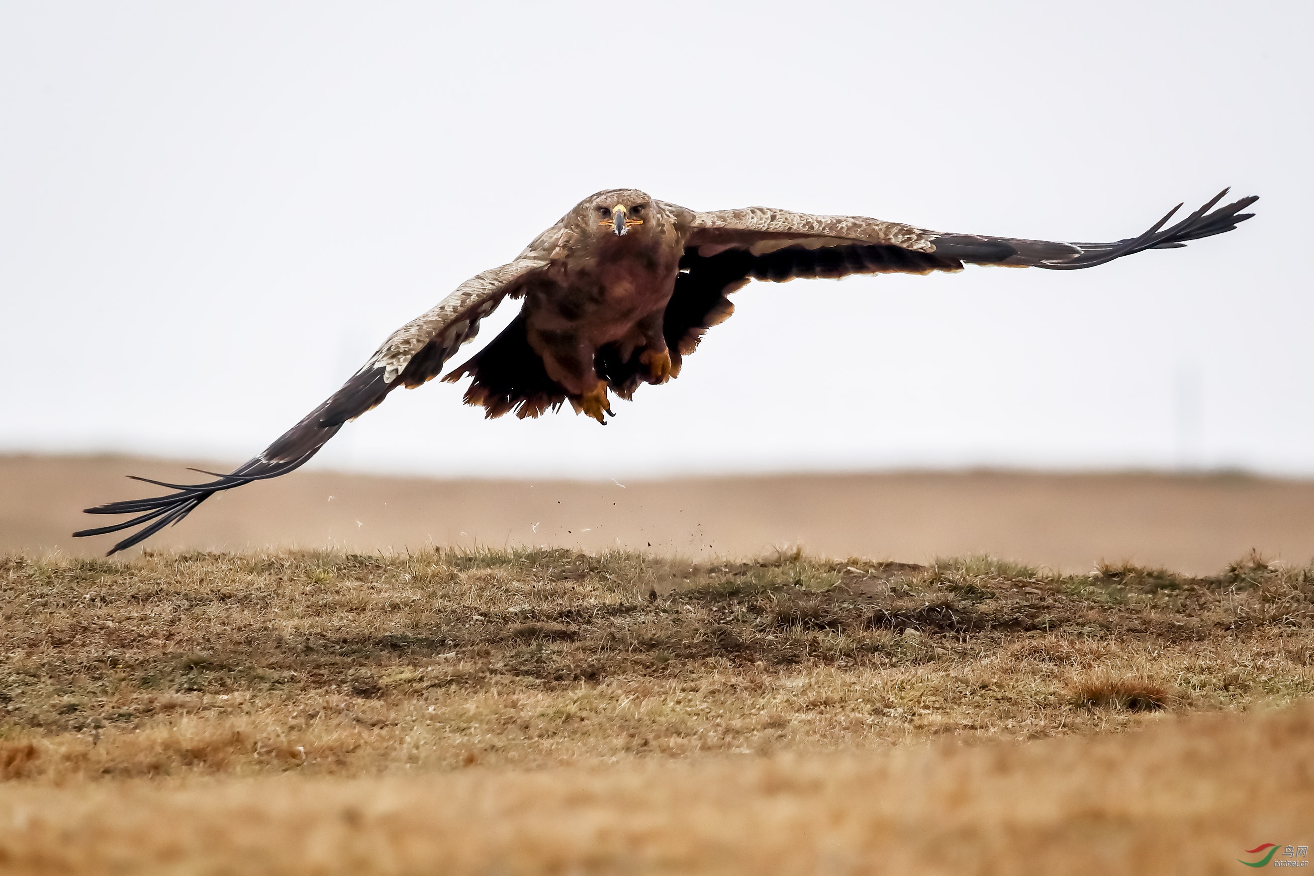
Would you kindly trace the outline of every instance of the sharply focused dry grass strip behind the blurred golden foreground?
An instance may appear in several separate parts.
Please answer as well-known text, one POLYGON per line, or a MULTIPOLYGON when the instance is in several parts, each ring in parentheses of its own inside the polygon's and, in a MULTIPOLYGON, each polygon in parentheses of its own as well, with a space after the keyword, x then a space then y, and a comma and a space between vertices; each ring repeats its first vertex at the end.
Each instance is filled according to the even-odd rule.
POLYGON ((1117 730, 1314 691, 1314 570, 0 559, 0 771, 361 775, 1117 730))

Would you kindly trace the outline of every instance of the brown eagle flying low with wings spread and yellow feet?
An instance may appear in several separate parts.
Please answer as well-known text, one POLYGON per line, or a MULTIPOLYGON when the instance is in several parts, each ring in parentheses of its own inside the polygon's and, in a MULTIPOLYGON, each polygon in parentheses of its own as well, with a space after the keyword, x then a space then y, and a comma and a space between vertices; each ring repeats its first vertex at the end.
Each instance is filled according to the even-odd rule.
POLYGON ((221 490, 276 478, 304 465, 343 423, 397 389, 442 373, 480 319, 506 298, 520 313, 484 349, 444 380, 469 376, 468 405, 486 416, 539 416, 569 402, 606 426, 608 393, 629 399, 641 383, 679 374, 703 332, 733 311, 728 296, 750 280, 783 282, 854 273, 962 271, 964 264, 1093 268, 1143 250, 1169 250, 1231 231, 1256 197, 1214 209, 1223 189, 1175 225, 1173 208, 1144 234, 1114 243, 1055 243, 945 234, 859 215, 809 215, 767 208, 698 213, 636 189, 591 194, 520 255, 470 277, 436 307, 406 323, 336 393, 260 456, 205 483, 164 483, 150 499, 112 502, 88 514, 131 519, 75 536, 137 532, 109 553, 131 548, 187 516, 221 490))

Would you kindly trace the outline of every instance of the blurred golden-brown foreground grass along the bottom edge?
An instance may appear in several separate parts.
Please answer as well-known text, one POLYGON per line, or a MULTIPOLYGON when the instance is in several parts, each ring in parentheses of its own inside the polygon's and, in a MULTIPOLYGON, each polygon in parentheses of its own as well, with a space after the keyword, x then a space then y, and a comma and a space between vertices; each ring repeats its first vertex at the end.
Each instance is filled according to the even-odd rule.
POLYGON ((1314 709, 1118 737, 0 788, 0 871, 1201 873, 1314 837, 1314 709))

